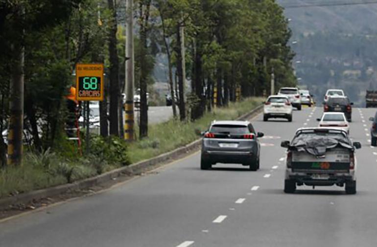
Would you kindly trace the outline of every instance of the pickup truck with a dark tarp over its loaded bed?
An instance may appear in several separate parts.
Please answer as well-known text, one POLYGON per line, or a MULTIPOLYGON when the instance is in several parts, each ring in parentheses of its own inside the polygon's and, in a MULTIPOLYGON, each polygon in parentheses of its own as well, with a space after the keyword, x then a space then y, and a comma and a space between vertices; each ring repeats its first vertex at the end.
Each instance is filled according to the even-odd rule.
POLYGON ((284 192, 294 193, 296 186, 345 185, 346 194, 356 193, 355 150, 344 130, 301 128, 292 141, 282 141, 287 149, 284 192))

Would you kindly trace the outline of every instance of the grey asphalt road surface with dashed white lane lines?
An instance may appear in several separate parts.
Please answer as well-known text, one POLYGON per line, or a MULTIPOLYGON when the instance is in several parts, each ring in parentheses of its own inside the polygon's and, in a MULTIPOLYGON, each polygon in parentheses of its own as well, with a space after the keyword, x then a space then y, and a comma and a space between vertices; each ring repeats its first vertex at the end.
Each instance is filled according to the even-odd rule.
POLYGON ((199 169, 199 154, 158 172, 73 202, 0 223, 1 247, 375 247, 377 149, 368 118, 354 109, 360 141, 357 194, 340 187, 283 193, 284 149, 296 129, 316 126, 322 109, 295 111, 293 122, 253 120, 264 132, 261 169, 199 169))

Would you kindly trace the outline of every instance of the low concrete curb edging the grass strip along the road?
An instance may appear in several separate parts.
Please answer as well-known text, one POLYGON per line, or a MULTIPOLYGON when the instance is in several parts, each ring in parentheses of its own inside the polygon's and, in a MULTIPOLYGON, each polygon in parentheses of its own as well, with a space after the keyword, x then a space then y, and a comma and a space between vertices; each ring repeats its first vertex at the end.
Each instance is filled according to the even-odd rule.
MULTIPOLYGON (((237 118, 237 120, 247 120, 250 117, 256 116, 261 112, 263 109, 263 105, 260 105, 256 107, 254 110, 251 112, 248 112, 240 117, 237 118)), ((153 166, 156 166, 159 163, 162 163, 166 160, 174 159, 177 157, 180 157, 184 154, 187 154, 193 150, 198 150, 201 145, 201 139, 198 139, 196 141, 193 141, 186 146, 177 148, 173 151, 170 151, 165 154, 161 154, 157 157, 153 157, 147 160, 142 160, 138 163, 131 164, 129 166, 121 167, 116 170, 95 176, 93 178, 85 179, 85 180, 80 180, 76 181, 73 183, 69 184, 63 184, 63 185, 58 185, 55 187, 50 187, 46 189, 41 189, 41 190, 35 190, 31 191, 28 193, 24 194, 19 194, 13 197, 7 197, 0 199, 0 209, 6 209, 9 208, 10 205, 17 204, 17 203, 23 203, 27 204, 29 202, 32 202, 33 200, 39 200, 42 198, 47 198, 47 197, 54 197, 59 194, 63 194, 68 191, 74 191, 78 189, 88 189, 90 187, 93 187, 95 185, 99 185, 102 183, 105 183, 107 181, 110 181, 114 178, 117 178, 123 174, 126 175, 138 175, 141 174, 142 172, 152 168, 153 166)))

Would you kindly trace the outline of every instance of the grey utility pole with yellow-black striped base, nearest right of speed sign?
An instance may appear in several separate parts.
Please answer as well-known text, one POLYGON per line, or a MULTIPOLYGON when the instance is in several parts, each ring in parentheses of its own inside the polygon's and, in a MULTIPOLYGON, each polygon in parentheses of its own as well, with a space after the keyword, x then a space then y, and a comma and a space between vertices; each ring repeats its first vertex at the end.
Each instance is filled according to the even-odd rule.
POLYGON ((133 0, 126 3, 126 102, 124 104, 124 139, 134 139, 134 16, 133 0))

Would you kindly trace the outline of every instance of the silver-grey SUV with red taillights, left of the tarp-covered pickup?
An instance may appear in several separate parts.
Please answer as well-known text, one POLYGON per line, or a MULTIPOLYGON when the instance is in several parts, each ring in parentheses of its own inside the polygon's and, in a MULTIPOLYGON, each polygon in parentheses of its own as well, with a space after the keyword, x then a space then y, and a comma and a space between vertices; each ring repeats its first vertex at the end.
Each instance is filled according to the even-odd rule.
POLYGON ((249 121, 214 121, 203 132, 200 168, 208 170, 216 163, 239 163, 249 170, 259 169, 259 138, 249 121))

